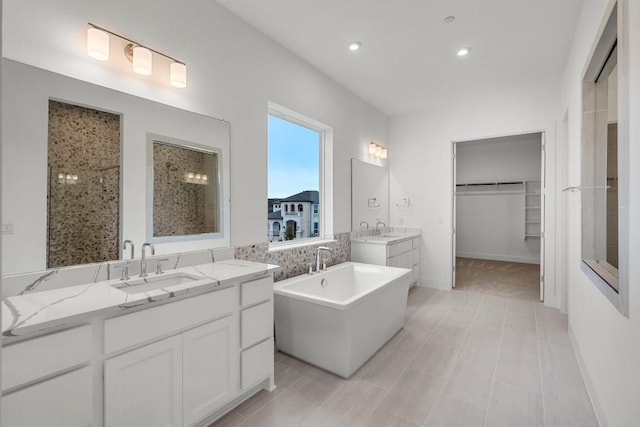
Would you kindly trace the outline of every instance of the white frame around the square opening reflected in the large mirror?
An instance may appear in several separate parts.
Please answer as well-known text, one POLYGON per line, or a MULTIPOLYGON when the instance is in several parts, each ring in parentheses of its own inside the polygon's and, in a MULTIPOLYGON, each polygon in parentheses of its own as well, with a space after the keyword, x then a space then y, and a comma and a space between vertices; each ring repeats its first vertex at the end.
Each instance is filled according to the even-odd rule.
POLYGON ((177 138, 172 138, 165 135, 159 135, 155 133, 147 133, 147 241, 151 243, 165 243, 165 242, 183 242, 188 240, 202 240, 202 239, 218 239, 224 237, 224 185, 223 185, 223 161, 222 150, 210 145, 196 144, 190 141, 184 141, 177 138), (217 156, 217 215, 218 215, 218 230, 214 233, 199 233, 199 234, 183 234, 175 236, 154 236, 153 234, 153 193, 154 193, 154 163, 153 163, 153 144, 162 143, 165 145, 171 145, 173 147, 184 148, 187 150, 199 151, 208 154, 216 154, 217 156))

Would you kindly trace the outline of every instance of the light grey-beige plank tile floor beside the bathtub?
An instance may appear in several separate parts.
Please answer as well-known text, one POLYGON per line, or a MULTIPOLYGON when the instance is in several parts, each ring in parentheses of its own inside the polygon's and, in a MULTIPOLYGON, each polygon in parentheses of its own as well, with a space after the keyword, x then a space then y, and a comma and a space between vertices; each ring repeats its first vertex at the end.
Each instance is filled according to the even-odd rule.
POLYGON ((540 303, 414 287, 407 319, 349 380, 282 353, 277 389, 222 426, 597 426, 567 334, 540 303))

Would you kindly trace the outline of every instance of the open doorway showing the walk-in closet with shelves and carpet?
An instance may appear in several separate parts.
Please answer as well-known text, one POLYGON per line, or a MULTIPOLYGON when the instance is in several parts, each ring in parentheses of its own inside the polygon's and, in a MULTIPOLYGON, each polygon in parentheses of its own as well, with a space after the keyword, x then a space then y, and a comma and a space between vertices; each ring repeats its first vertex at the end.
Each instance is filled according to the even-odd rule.
POLYGON ((544 133, 453 143, 453 287, 541 301, 544 133))

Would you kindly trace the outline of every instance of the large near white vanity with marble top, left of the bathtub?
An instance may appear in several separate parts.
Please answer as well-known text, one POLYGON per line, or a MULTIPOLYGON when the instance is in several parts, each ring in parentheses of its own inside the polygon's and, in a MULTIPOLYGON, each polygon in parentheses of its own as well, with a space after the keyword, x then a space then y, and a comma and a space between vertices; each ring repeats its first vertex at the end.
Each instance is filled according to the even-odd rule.
POLYGON ((273 390, 276 268, 225 260, 150 274, 190 279, 142 293, 116 279, 5 297, 2 425, 206 426, 273 390))

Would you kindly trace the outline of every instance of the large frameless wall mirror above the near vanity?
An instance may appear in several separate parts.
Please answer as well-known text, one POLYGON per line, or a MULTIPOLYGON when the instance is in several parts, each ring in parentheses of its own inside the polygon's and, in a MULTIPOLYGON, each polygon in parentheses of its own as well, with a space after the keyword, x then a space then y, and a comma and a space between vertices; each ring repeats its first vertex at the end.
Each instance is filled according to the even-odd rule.
POLYGON ((156 254, 230 246, 229 123, 8 59, 1 83, 4 275, 123 259, 124 240, 140 257, 149 237, 150 134, 200 144, 218 177, 207 196, 217 204, 204 201, 215 206, 204 214, 207 233, 165 224, 165 234, 186 237, 155 242, 156 254), (50 115, 60 123, 50 125, 50 115))

